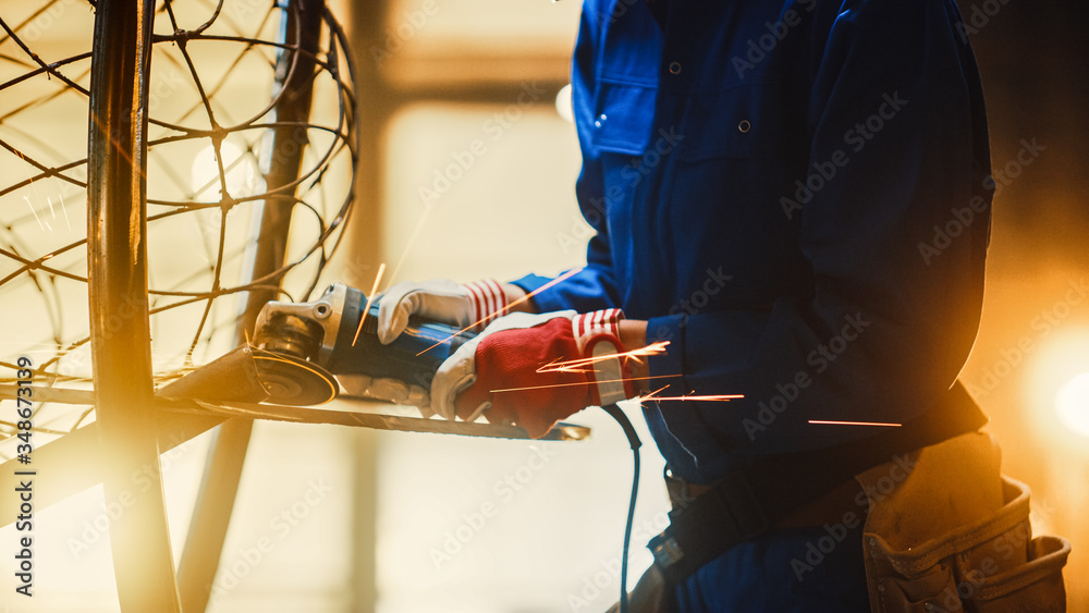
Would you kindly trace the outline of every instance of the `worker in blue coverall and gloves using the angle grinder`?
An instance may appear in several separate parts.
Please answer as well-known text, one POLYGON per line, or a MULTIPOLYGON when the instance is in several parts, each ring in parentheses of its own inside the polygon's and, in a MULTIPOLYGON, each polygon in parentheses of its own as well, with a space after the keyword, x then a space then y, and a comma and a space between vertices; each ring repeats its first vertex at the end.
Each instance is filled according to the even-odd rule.
POLYGON ((476 324, 430 410, 539 437, 651 390, 741 394, 643 401, 675 530, 633 611, 951 610, 959 579, 891 583, 880 560, 1005 504, 986 418, 955 384, 993 181, 954 0, 587 0, 572 105, 585 268, 381 301, 382 342, 411 315, 476 324), (812 480, 791 476, 824 467, 837 482, 799 494, 812 480), (953 511, 918 502, 950 471, 953 511))

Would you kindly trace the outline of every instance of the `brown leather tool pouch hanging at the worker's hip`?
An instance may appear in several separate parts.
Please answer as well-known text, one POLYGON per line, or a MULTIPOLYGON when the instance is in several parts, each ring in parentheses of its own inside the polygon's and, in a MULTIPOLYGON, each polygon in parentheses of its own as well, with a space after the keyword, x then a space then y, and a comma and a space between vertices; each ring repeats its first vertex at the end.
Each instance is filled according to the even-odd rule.
POLYGON ((873 612, 1066 611, 1070 545, 1032 537, 1028 487, 1001 477, 999 459, 989 436, 971 433, 902 459, 898 480, 895 463, 857 477, 873 612))

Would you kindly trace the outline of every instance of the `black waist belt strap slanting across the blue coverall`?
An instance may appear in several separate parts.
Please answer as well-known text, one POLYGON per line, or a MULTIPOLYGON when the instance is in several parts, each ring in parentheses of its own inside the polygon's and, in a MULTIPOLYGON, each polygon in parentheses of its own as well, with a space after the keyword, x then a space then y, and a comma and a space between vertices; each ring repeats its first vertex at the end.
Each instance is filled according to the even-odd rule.
POLYGON ((735 470, 683 507, 647 545, 670 586, 737 543, 894 456, 974 432, 987 424, 958 381, 943 402, 900 428, 816 451, 776 454, 735 470))

